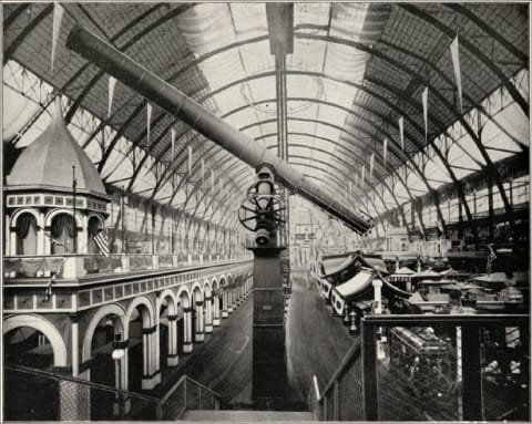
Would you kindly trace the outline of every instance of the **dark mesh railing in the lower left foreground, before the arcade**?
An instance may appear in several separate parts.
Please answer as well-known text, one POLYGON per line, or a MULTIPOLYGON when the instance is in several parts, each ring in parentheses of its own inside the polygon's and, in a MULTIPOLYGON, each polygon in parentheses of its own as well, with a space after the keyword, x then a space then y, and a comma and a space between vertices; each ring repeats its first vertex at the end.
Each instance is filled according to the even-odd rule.
POLYGON ((218 393, 183 375, 162 399, 32 368, 4 365, 8 421, 178 420, 218 410, 218 393))

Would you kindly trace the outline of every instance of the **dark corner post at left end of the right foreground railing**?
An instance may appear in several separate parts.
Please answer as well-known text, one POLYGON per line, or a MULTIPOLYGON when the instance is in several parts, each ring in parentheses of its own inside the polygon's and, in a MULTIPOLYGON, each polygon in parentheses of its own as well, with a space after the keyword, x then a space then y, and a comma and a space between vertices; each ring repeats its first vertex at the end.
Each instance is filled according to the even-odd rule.
POLYGON ((362 319, 362 383, 364 383, 364 417, 367 421, 379 420, 379 393, 377 389, 377 338, 376 327, 362 319))

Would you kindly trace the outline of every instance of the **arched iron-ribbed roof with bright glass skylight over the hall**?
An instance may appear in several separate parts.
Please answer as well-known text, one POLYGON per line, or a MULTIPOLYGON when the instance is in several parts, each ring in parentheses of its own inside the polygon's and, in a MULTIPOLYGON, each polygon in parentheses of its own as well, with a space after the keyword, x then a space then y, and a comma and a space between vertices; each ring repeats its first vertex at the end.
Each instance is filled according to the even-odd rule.
MULTIPOLYGON (((223 179, 221 197, 234 200, 226 207, 238 204, 253 183, 254 174, 246 165, 155 106, 149 136, 145 100, 120 83, 108 116, 108 75, 64 43, 73 24, 81 23, 257 143, 275 148, 276 62, 265 3, 63 7, 53 72, 53 8, 47 3, 4 7, 4 61, 20 63, 68 96, 68 121, 80 108, 99 118, 84 147, 96 152, 94 162, 104 180, 121 185, 125 180, 131 192, 185 208, 191 190, 185 199, 176 192, 191 184, 192 193, 216 196, 218 190, 208 184, 214 176, 216 182, 223 179), (104 127, 112 131, 101 143, 98 137, 104 127), (121 147, 122 137, 130 144, 121 147), (190 147, 192 173, 187 169, 190 147), (119 149, 124 156, 139 153, 123 175, 114 169, 119 149), (202 174, 204 167, 207 170, 202 174), (213 176, 211 169, 216 169, 213 176), (173 175, 183 178, 171 184, 173 175)), ((378 197, 390 192, 398 203, 398 198, 431 195, 442 184, 452 184, 469 218, 472 211, 460 182, 469 173, 485 170, 501 189, 508 209, 503 176, 495 163, 504 152, 523 157, 528 153, 528 124, 515 124, 523 121, 520 116, 528 123, 529 115, 528 14, 524 3, 295 3, 294 50, 283 70, 289 161, 303 173, 311 173, 329 193, 345 192, 350 176, 352 195, 359 199, 368 190, 378 197), (449 49, 457 34, 462 111, 449 49), (426 87, 427 136, 421 100, 426 87), (485 102, 498 90, 512 104, 511 122, 488 110, 485 102), (490 145, 480 135, 472 111, 501 131, 504 146, 490 145), (401 116, 405 148, 399 139, 401 116), (460 134, 456 134, 457 125, 460 134), (372 153, 375 169, 369 175, 372 153), (359 178, 362 166, 366 182, 359 178)), ((344 196, 344 201, 351 201, 350 196, 344 196)))

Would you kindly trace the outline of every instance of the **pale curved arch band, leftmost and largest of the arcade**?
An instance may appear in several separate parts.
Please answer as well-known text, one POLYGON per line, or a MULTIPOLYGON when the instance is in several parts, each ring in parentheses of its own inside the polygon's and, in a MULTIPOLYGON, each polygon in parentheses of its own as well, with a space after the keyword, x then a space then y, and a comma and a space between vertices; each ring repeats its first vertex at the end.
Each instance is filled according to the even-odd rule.
POLYGON ((20 327, 30 327, 43 333, 53 350, 53 366, 68 366, 66 345, 53 323, 37 314, 11 316, 3 321, 3 335, 20 327))

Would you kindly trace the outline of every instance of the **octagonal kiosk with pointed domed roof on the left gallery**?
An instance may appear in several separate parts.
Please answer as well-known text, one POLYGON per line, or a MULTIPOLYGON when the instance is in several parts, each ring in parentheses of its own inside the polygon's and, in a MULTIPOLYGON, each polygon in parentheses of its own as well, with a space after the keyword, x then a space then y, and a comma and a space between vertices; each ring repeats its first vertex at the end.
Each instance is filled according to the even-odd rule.
POLYGON ((49 126, 7 177, 6 251, 18 257, 98 254, 94 236, 104 228, 109 201, 57 97, 49 126))

